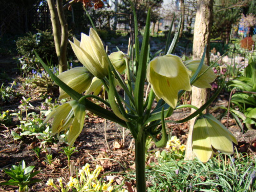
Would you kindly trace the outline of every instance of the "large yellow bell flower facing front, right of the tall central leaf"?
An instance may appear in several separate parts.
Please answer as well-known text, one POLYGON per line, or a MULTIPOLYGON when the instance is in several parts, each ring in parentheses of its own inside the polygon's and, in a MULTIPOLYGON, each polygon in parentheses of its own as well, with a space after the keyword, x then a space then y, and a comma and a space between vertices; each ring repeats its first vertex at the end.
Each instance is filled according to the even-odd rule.
POLYGON ((163 99, 172 108, 176 108, 178 92, 190 91, 190 71, 176 55, 156 57, 147 67, 146 78, 159 99, 163 99))

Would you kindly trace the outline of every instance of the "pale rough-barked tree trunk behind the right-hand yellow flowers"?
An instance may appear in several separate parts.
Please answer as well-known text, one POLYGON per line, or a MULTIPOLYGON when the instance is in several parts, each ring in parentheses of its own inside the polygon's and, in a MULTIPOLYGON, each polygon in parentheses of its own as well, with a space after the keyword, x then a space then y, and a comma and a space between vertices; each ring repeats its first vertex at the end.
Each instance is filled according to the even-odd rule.
MULTIPOLYGON (((205 64, 209 65, 209 42, 210 42, 210 29, 212 25, 212 7, 214 0, 198 0, 197 1, 197 14, 194 29, 194 41, 193 41, 193 59, 201 59, 204 47, 206 48, 205 64)), ((191 104, 200 108, 207 100, 207 90, 199 89, 196 87, 192 88, 191 104)), ((191 113, 195 110, 191 109, 191 113)), ((189 133, 187 138, 187 146, 185 159, 192 160, 194 154, 192 151, 192 132, 195 123, 195 118, 190 120, 189 133)))

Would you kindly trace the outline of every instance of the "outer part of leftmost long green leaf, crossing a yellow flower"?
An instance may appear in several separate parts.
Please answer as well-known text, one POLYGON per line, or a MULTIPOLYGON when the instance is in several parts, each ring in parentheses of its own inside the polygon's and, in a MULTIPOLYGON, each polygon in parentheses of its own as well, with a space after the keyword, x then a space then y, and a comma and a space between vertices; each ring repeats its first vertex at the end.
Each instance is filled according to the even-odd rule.
POLYGON ((77 93, 75 90, 69 87, 66 83, 61 81, 56 75, 54 75, 53 72, 48 68, 46 63, 42 61, 42 59, 38 56, 35 50, 34 50, 34 53, 37 59, 39 60, 39 62, 41 63, 41 65, 45 68, 47 73, 51 76, 52 80, 54 80, 62 90, 64 90, 74 100, 79 100, 82 97, 81 94, 77 93))

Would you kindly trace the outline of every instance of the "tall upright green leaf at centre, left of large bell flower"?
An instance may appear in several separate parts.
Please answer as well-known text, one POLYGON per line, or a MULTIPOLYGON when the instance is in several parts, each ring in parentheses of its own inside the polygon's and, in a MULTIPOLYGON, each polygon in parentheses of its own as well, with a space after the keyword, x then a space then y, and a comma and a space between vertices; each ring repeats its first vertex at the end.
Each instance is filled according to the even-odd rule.
POLYGON ((147 65, 147 50, 148 50, 148 42, 150 39, 150 12, 151 8, 148 9, 147 18, 146 18, 146 27, 145 33, 142 41, 142 47, 140 52, 139 59, 139 67, 137 72, 137 79, 135 83, 135 108, 138 112, 138 115, 141 116, 143 114, 143 101, 144 101, 144 84, 146 77, 146 65, 147 65))

